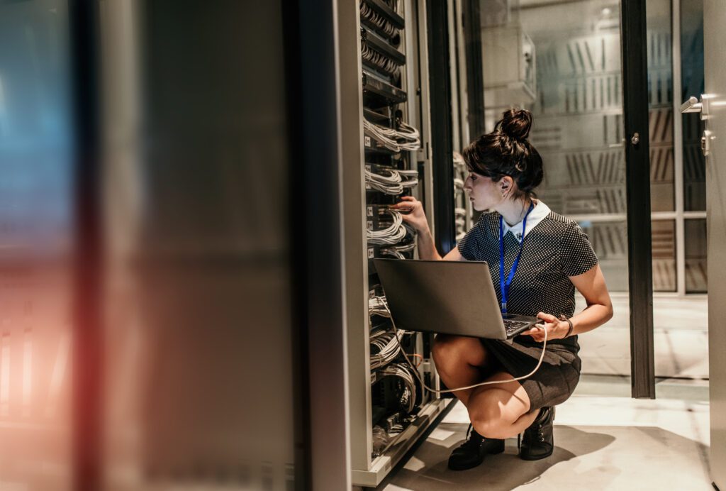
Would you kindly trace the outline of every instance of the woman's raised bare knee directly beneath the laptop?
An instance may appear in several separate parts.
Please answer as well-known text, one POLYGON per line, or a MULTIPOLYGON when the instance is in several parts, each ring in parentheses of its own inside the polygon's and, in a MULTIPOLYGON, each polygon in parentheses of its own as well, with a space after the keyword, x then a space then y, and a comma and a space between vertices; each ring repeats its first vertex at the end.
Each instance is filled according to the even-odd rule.
MULTIPOLYGON (((432 354, 441 380, 452 389, 483 381, 494 366, 493 357, 489 357, 477 338, 438 334, 433 341, 432 354)), ((454 395, 468 405, 473 390, 455 391, 454 395)))

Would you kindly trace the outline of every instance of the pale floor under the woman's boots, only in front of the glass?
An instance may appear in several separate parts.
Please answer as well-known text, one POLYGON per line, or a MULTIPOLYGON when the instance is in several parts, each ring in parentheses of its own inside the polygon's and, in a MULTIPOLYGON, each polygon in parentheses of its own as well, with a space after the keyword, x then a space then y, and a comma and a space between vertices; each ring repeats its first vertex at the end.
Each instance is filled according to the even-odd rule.
POLYGON ((550 458, 520 460, 516 440, 508 439, 505 453, 460 472, 446 468, 468 426, 466 409, 457 403, 404 468, 378 489, 712 490, 708 386, 676 381, 666 390, 675 399, 581 395, 607 392, 608 384, 616 391, 623 385, 585 377, 576 394, 558 406, 550 458))

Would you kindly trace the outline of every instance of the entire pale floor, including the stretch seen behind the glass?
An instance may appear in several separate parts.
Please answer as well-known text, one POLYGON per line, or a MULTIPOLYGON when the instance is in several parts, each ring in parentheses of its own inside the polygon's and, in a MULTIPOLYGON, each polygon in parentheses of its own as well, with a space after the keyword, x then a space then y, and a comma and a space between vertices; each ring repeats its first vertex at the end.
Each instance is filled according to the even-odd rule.
POLYGON ((574 396, 558 406, 550 458, 520 460, 513 438, 505 453, 489 455, 478 468, 449 471, 449 453, 468 428, 457 403, 377 489, 712 490, 705 297, 656 295, 653 400, 630 398, 627 296, 613 296, 613 304, 613 320, 582 342, 583 376, 574 396))

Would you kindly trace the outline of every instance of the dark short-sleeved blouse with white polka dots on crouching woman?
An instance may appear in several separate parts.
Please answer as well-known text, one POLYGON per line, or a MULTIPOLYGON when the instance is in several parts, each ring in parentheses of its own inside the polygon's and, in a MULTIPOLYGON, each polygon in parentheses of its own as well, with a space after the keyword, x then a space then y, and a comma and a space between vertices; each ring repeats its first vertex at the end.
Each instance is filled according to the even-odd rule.
MULTIPOLYGON (((468 261, 486 261, 492 274, 497 300, 499 291, 499 213, 480 216, 478 222, 458 243, 459 252, 468 261)), ((519 252, 519 240, 512 233, 504 237, 505 275, 519 252)), ((582 275, 597 264, 597 256, 587 235, 571 219, 550 211, 524 238, 522 256, 507 299, 507 312, 537 315, 539 312, 572 317, 575 311, 575 288, 568 277, 582 275)), ((578 349, 577 336, 549 341, 578 349)), ((539 345, 531 336, 515 338, 520 344, 539 345)))

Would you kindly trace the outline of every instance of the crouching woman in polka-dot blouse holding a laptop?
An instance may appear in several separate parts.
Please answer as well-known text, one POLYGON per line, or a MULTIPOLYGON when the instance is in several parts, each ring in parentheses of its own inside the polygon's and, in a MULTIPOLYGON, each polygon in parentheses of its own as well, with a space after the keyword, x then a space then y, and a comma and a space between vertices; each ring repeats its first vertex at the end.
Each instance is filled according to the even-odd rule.
POLYGON ((489 212, 443 258, 433 245, 420 201, 406 197, 393 206, 408 212, 402 216, 418 232, 421 259, 487 261, 502 312, 537 316, 547 330, 542 365, 521 381, 512 379, 530 373, 542 354, 542 328, 525 331, 511 344, 436 336, 433 360, 446 386, 505 381, 454 392, 471 421, 468 439, 449 458, 454 470, 478 466, 487 453, 504 451, 505 438, 522 432, 521 458, 551 455, 553 406, 568 399, 579 381, 577 336, 613 315, 587 235, 535 198, 542 158, 527 139, 531 123, 529 111, 507 110, 492 133, 464 150, 469 169, 464 189, 475 210, 489 212), (575 288, 587 301, 577 315, 575 288))

